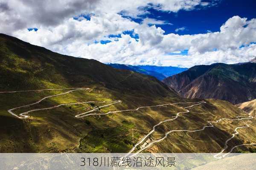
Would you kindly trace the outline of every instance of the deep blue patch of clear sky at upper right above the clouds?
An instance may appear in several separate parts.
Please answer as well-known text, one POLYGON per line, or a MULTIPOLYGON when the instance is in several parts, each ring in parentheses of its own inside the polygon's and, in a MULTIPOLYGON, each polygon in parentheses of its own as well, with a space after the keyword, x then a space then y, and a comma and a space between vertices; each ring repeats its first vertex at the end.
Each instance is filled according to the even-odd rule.
MULTIPOLYGON (((210 1, 206 1, 210 2, 210 1)), ((141 15, 140 19, 132 20, 141 22, 143 18, 149 17, 157 20, 165 20, 173 25, 156 25, 160 26, 165 33, 175 33, 175 29, 185 27, 184 31, 179 31, 180 35, 184 34, 201 34, 207 31, 219 31, 220 26, 227 19, 235 15, 246 17, 249 20, 256 17, 255 0, 220 0, 216 5, 196 10, 180 10, 176 12, 158 11, 154 8, 148 8, 149 14, 141 15)))

